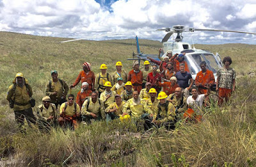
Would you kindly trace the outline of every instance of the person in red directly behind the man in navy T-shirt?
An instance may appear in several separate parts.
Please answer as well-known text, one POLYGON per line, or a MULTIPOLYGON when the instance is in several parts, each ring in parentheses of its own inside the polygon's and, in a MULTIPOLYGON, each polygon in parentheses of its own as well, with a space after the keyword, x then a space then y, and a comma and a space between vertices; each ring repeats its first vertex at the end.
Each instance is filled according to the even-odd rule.
POLYGON ((188 63, 184 60, 185 54, 186 54, 186 52, 180 53, 180 54, 176 53, 172 56, 170 62, 173 63, 173 70, 175 72, 178 72, 180 70, 180 64, 184 64, 185 65, 185 71, 189 72, 188 63))

